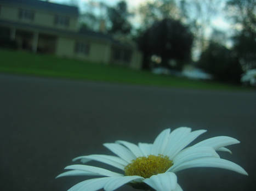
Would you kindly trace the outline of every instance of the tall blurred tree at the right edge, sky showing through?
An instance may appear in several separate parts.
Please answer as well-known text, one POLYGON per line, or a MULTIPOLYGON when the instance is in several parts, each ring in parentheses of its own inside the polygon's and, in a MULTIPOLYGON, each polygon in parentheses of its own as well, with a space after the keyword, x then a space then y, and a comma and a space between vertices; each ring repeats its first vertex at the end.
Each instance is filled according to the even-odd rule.
POLYGON ((240 26, 234 36, 234 51, 244 70, 256 68, 256 1, 230 0, 227 14, 240 26))

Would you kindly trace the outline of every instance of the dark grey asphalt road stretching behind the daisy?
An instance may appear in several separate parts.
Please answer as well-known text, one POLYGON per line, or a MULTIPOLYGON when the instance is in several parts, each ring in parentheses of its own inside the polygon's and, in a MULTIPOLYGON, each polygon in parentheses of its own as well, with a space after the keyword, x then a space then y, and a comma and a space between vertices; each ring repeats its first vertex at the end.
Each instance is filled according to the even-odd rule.
MULTIPOLYGON (((194 168, 178 172, 184 191, 254 190, 256 92, 202 91, 0 75, 1 190, 67 190, 82 177, 55 176, 72 158, 110 154, 117 139, 152 142, 164 128, 241 141, 221 157, 249 176, 194 168)), ((91 163, 94 164, 94 163, 91 163)), ((95 163, 95 165, 100 165, 95 163)), ((103 165, 104 166, 104 165, 103 165)), ((106 166, 105 166, 106 167, 106 166)), ((117 190, 133 190, 124 186, 117 190)))

